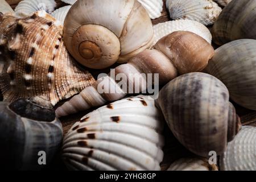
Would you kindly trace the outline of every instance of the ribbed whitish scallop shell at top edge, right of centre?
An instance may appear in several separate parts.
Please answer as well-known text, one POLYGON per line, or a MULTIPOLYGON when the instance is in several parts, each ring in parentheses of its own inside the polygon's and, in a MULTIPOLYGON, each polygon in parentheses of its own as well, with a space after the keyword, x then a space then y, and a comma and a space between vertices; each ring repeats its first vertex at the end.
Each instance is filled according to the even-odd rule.
POLYGON ((166 7, 171 19, 196 20, 205 26, 213 24, 221 13, 221 7, 212 0, 167 0, 166 7))

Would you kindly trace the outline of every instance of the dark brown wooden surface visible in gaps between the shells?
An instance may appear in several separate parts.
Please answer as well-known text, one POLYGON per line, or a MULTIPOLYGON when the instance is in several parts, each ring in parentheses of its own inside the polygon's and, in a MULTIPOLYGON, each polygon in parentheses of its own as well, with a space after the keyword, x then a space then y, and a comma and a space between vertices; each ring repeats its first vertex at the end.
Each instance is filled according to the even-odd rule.
MULTIPOLYGON (((15 7, 16 3, 19 2, 20 0, 7 0, 7 2, 10 3, 11 7, 15 7)), ((62 3, 60 0, 56 1, 57 6, 61 7, 64 6, 65 3, 62 3)), ((165 0, 164 0, 165 2, 165 0)), ((165 3, 164 3, 165 5, 165 3)), ((158 24, 162 22, 166 22, 170 20, 168 13, 166 11, 166 7, 164 6, 162 16, 158 19, 152 20, 153 24, 158 24)), ((113 68, 115 65, 113 66, 113 68)), ((108 73, 108 69, 102 71, 108 73)), ((92 72, 90 70, 90 72, 92 72)), ((94 71, 94 77, 97 76, 99 72, 94 71)), ((233 103, 234 104, 234 103, 233 103)), ((250 125, 250 126, 255 126, 256 127, 256 111, 251 111, 247 110, 241 106, 238 106, 234 104, 237 110, 237 114, 240 115, 241 121, 243 125, 250 125)), ((95 109, 95 108, 93 108, 95 109)), ((60 118, 61 122, 63 123, 63 129, 64 129, 64 134, 68 132, 68 130, 71 128, 71 126, 76 122, 79 121, 79 119, 84 116, 86 113, 89 113, 91 110, 88 111, 82 111, 81 113, 75 114, 75 115, 69 115, 68 117, 65 118, 60 118)), ((175 137, 172 135, 170 129, 168 129, 168 126, 166 125, 164 127, 164 137, 166 139, 166 146, 164 146, 163 151, 164 151, 164 159, 161 164, 162 170, 166 170, 174 160, 186 157, 186 156, 193 156, 191 152, 187 151, 177 140, 175 137)), ((65 166, 61 161, 60 154, 56 156, 55 162, 53 162, 46 170, 65 170, 65 166)))

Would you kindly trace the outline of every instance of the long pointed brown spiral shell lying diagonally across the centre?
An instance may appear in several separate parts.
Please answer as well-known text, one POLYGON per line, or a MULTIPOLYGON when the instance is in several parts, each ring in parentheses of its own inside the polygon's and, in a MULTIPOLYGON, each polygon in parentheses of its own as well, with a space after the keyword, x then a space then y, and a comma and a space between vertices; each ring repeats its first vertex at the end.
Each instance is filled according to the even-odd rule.
POLYGON ((61 117, 92 106, 101 106, 107 101, 120 100, 126 93, 145 92, 152 84, 156 87, 165 85, 178 73, 202 71, 214 54, 213 47, 206 40, 188 31, 176 31, 165 36, 156 43, 155 48, 146 49, 127 64, 119 65, 114 69, 113 76, 110 72, 109 75, 101 77, 92 86, 57 108, 56 114, 61 117), (119 73, 122 73, 123 80, 127 82, 120 81, 119 73), (156 78, 158 82, 147 81, 148 74, 152 74, 154 79, 159 74, 156 78))

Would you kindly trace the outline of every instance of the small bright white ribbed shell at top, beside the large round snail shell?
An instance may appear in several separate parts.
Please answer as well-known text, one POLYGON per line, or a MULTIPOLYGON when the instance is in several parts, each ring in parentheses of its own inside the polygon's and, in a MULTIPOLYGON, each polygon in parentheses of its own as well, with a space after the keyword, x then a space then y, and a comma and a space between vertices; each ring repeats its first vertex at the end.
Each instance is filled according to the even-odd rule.
POLYGON ((159 18, 163 11, 163 0, 138 0, 147 10, 151 19, 159 18))

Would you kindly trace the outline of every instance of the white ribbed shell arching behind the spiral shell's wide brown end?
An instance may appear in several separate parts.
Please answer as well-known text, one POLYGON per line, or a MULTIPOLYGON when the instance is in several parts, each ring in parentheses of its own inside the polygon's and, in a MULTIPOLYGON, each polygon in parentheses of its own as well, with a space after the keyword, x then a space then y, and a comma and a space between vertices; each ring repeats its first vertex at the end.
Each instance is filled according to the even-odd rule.
POLYGON ((194 20, 174 20, 159 23, 154 26, 155 38, 153 45, 155 45, 158 40, 160 40, 164 36, 171 34, 175 31, 190 31, 207 40, 209 44, 212 43, 212 34, 210 34, 208 28, 205 27, 203 24, 194 20))

